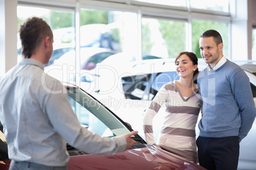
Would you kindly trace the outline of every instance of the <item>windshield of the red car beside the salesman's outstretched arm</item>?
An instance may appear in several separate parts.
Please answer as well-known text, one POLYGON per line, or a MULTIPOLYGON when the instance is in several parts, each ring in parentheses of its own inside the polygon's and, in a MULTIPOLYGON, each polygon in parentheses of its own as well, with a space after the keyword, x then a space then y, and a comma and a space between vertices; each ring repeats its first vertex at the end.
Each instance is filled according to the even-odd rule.
POLYGON ((81 124, 100 136, 130 133, 125 123, 80 88, 67 88, 69 101, 81 124))

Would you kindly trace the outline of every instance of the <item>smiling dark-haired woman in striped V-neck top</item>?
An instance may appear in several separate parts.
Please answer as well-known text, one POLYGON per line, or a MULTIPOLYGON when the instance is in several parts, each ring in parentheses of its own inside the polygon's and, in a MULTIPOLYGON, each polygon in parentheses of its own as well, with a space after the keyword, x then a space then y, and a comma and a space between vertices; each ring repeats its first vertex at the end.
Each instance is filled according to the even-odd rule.
POLYGON ((151 145, 196 163, 196 122, 202 105, 193 79, 198 73, 197 57, 191 52, 181 52, 175 64, 180 79, 164 84, 153 98, 143 119, 145 138, 151 145), (165 108, 164 121, 155 141, 153 118, 161 107, 165 108))

